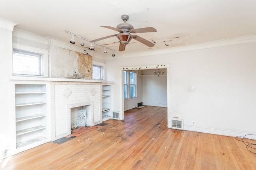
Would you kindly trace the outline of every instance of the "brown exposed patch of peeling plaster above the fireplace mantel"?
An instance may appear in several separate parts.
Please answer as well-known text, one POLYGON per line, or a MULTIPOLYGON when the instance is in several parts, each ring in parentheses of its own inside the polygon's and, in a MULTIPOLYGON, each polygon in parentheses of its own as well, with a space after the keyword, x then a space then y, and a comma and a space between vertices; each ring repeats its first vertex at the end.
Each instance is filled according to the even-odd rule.
POLYGON ((92 56, 76 52, 78 71, 84 79, 92 79, 92 56))

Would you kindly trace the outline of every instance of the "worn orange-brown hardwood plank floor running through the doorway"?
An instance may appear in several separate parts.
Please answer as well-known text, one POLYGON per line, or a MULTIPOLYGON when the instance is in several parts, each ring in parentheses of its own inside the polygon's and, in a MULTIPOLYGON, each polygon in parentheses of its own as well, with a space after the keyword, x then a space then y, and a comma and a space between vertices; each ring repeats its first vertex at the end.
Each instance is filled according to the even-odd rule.
POLYGON ((234 137, 167 128, 167 108, 125 112, 61 144, 53 142, 4 160, 6 170, 255 170, 256 156, 234 137))

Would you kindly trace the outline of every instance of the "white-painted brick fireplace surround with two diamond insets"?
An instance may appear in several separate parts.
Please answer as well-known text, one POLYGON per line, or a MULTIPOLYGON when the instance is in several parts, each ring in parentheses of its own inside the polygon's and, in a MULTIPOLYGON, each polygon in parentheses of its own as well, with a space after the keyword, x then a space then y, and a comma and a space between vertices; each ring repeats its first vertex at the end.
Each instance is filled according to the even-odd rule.
POLYGON ((86 109, 86 126, 102 122, 102 84, 96 82, 52 82, 52 139, 71 134, 71 112, 86 109), (53 131, 53 129, 55 130, 53 131))

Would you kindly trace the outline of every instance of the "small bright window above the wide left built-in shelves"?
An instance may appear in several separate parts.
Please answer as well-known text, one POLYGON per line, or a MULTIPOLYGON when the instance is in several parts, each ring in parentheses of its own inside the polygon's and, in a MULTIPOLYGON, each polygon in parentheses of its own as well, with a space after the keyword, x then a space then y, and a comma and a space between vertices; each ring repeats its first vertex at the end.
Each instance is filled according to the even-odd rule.
POLYGON ((43 54, 13 50, 13 74, 43 76, 43 54))

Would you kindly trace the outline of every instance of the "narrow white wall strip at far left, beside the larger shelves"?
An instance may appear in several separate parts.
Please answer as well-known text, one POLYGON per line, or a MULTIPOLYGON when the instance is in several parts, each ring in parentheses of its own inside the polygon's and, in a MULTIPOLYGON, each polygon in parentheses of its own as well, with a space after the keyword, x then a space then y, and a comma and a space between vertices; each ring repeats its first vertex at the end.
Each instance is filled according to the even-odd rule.
POLYGON ((12 75, 12 30, 16 23, 0 18, 0 159, 12 154, 15 133, 11 105, 11 86, 9 76, 12 75))

